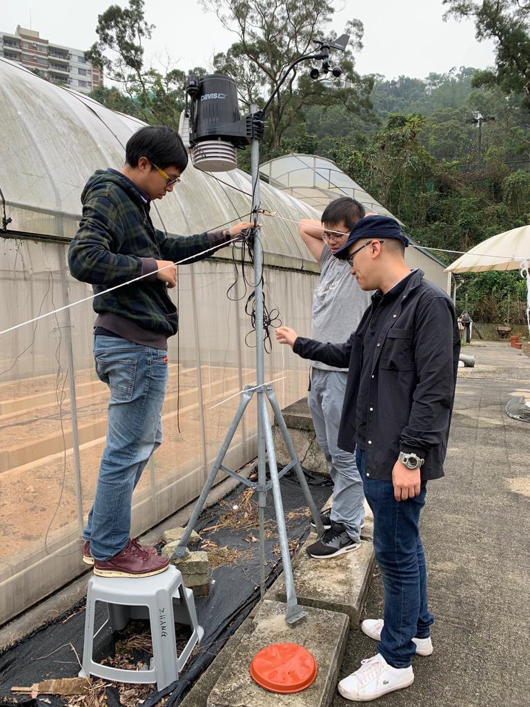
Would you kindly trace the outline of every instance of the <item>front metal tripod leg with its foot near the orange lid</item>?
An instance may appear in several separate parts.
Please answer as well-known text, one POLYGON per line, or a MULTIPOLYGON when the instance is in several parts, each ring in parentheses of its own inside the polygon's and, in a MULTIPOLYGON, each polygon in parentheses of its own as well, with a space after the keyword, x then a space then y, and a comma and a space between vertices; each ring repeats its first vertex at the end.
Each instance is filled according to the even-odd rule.
POLYGON ((287 594, 287 612, 285 621, 294 624, 295 621, 307 616, 307 612, 298 606, 295 592, 295 580, 293 568, 290 563, 289 543, 287 539, 287 527, 285 527, 285 516, 283 515, 283 503, 281 501, 280 480, 278 479, 278 468, 276 467, 276 452, 272 438, 271 421, 267 414, 266 401, 263 396, 261 401, 261 421, 263 423, 267 452, 269 455, 269 472, 272 481, 272 493, 274 498, 274 510, 276 512, 276 523, 278 525, 278 536, 280 537, 281 559, 283 563, 283 577, 285 578, 285 593, 287 594))

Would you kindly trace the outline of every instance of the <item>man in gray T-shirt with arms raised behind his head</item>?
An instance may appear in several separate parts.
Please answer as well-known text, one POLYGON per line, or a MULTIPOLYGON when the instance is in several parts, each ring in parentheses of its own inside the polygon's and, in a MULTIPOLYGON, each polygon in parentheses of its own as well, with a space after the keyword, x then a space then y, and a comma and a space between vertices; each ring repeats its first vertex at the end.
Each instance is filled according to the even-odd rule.
MULTIPOLYGON (((320 264, 311 319, 312 337, 318 341, 344 341, 355 331, 370 304, 370 296, 350 276, 348 264, 333 257, 364 215, 365 209, 358 201, 342 197, 326 206, 322 223, 308 218, 300 221, 300 236, 320 264)), ((326 532, 307 548, 307 553, 317 559, 327 559, 360 547, 365 497, 355 455, 337 445, 348 368, 328 366, 321 361, 310 361, 310 365, 307 404, 334 488, 331 510, 320 516, 326 532)))

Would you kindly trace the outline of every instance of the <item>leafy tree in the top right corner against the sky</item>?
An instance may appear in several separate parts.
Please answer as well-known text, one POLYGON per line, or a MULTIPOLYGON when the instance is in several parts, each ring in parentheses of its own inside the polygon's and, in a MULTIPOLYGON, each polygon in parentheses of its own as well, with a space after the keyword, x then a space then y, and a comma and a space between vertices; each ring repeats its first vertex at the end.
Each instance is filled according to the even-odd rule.
POLYGON ((477 71, 475 86, 497 84, 505 93, 526 94, 530 107, 530 4, 521 0, 443 0, 449 6, 444 15, 473 18, 479 42, 493 39, 495 69, 477 71))

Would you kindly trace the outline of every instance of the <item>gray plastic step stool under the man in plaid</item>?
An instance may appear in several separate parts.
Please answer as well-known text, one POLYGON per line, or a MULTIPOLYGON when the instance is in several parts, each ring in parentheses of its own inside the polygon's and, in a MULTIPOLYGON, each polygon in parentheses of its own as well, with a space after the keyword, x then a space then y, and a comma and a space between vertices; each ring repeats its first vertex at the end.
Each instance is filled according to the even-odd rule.
POLYGON ((86 595, 85 641, 81 677, 105 677, 116 682, 155 682, 159 690, 178 679, 204 630, 197 623, 193 592, 184 586, 182 574, 173 565, 153 577, 114 578, 93 575, 86 595), (94 633, 96 602, 107 604, 109 619, 94 633), (153 658, 148 670, 122 670, 93 660, 95 636, 110 624, 121 631, 131 619, 149 619, 153 658), (175 622, 192 628, 192 636, 177 655, 175 622))

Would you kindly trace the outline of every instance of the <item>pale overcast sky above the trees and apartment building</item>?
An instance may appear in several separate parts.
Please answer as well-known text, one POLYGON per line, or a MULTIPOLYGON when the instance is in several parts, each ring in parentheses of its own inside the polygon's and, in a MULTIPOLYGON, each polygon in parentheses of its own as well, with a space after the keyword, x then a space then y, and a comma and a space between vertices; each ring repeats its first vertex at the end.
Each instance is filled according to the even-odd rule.
MULTIPOLYGON (((126 0, 17 0, 2 3, 0 30, 14 33, 16 25, 31 26, 41 37, 75 49, 88 49, 96 39, 98 14, 126 0)), ((423 78, 452 66, 484 68, 493 64, 493 43, 476 42, 471 21, 442 21, 441 0, 370 0, 335 3, 333 27, 341 34, 346 21, 357 17, 365 25, 365 48, 357 55, 361 74, 401 74, 423 78)), ((187 70, 210 67, 213 54, 223 51, 235 35, 225 30, 198 0, 146 0, 146 19, 156 25, 148 57, 187 70)))

